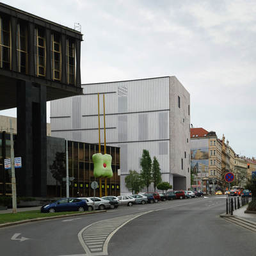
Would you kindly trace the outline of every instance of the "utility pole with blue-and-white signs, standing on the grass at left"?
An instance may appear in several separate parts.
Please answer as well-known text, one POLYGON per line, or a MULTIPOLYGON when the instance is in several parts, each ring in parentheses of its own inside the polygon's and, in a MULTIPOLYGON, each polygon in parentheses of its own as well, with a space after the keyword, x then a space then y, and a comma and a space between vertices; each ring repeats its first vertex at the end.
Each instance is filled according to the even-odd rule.
POLYGON ((11 166, 12 166, 12 213, 17 213, 16 179, 15 179, 14 149, 13 149, 13 129, 12 129, 11 118, 10 118, 10 136, 11 136, 11 166))

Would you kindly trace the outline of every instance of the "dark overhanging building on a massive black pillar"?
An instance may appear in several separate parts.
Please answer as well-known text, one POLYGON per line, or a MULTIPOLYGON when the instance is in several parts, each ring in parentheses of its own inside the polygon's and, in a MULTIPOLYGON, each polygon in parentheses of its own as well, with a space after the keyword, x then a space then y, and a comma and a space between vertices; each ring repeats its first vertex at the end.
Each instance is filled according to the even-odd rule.
POLYGON ((83 35, 3 3, 0 35, 0 110, 17 108, 17 192, 45 196, 46 102, 83 93, 83 35))

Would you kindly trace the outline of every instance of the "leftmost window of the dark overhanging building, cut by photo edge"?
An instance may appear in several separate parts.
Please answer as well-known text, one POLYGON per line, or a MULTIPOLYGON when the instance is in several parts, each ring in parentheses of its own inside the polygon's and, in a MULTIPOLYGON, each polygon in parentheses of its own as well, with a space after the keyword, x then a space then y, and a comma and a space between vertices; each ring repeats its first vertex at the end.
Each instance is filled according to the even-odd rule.
POLYGON ((11 29, 10 21, 0 17, 0 67, 11 69, 11 29))

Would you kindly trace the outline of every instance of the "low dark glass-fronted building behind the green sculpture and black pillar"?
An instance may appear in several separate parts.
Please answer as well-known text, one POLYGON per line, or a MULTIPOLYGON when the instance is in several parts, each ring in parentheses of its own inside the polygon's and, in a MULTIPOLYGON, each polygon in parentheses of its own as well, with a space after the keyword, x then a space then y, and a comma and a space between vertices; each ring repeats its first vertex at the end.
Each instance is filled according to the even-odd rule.
MULTIPOLYGON (((14 149, 17 148, 17 135, 13 135, 14 149)), ((93 177, 93 162, 92 155, 97 153, 99 146, 90 143, 82 143, 77 141, 68 141, 68 172, 70 180, 70 196, 93 196, 92 182, 93 177)), ((103 148, 102 148, 103 150, 103 148)), ((47 136, 47 156, 45 172, 46 180, 45 191, 46 196, 59 197, 66 195, 66 182, 63 178, 66 177, 66 141, 63 138, 54 138, 47 136), (56 164, 58 164, 58 168, 56 164)), ((112 170, 113 177, 108 179, 107 189, 108 195, 120 195, 120 175, 118 169, 120 168, 120 148, 107 147, 107 153, 112 156, 112 170)), ((0 196, 12 195, 12 180, 11 171, 4 170, 3 159, 10 158, 10 133, 0 131, 0 196)), ((16 174, 22 172, 17 169, 16 174)), ((99 180, 96 179, 98 182, 99 180)), ((26 186, 30 182, 25 180, 26 186)), ((20 194, 20 183, 17 182, 17 195, 20 194)), ((102 185, 102 192, 104 195, 104 185, 102 185)), ((99 189, 96 189, 96 196, 99 196, 99 189)))

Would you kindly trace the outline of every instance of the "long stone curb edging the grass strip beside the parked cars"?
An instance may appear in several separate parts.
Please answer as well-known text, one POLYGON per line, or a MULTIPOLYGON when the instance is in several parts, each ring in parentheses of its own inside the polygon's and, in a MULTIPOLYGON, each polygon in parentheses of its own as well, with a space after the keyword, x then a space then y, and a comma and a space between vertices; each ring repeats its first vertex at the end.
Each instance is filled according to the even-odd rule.
POLYGON ((34 222, 34 221, 42 221, 42 220, 53 220, 53 219, 60 219, 60 218, 67 218, 67 217, 72 217, 72 216, 81 216, 81 215, 88 215, 88 214, 97 214, 100 212, 106 212, 106 210, 102 211, 92 211, 92 212, 81 212, 81 213, 74 213, 74 214, 65 214, 65 215, 58 215, 58 216, 50 216, 50 217, 43 217, 43 218, 36 218, 36 219, 31 219, 31 220, 20 220, 20 221, 13 221, 13 222, 8 222, 4 224, 0 224, 0 228, 4 227, 10 227, 14 225, 19 225, 19 224, 24 224, 28 222, 34 222))

